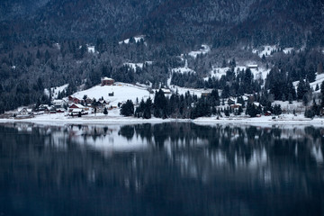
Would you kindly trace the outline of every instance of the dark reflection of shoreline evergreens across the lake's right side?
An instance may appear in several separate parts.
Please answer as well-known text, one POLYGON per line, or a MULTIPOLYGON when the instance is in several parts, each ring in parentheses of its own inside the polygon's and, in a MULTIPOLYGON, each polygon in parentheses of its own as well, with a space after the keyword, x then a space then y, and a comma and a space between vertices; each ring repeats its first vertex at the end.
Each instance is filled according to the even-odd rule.
POLYGON ((266 150, 270 158, 284 155, 293 159, 301 154, 313 157, 312 146, 315 145, 323 154, 321 129, 314 127, 238 127, 161 123, 122 126, 120 134, 127 139, 140 136, 142 139, 154 140, 158 148, 163 148, 167 144, 171 145, 171 148, 179 148, 179 143, 184 143, 184 147, 193 147, 193 144, 204 140, 208 143, 209 152, 220 151, 232 165, 238 163, 238 158, 247 164, 256 152, 260 154, 263 150, 266 150), (296 153, 296 149, 300 151, 297 150, 296 153))

